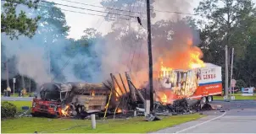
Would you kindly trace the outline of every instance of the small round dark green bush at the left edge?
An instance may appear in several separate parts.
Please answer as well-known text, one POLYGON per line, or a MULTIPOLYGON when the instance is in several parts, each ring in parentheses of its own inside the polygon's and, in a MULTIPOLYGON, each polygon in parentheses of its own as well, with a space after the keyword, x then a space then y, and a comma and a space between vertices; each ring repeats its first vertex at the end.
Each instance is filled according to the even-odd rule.
POLYGON ((1 104, 1 118, 13 118, 16 112, 16 105, 8 103, 6 101, 1 104))

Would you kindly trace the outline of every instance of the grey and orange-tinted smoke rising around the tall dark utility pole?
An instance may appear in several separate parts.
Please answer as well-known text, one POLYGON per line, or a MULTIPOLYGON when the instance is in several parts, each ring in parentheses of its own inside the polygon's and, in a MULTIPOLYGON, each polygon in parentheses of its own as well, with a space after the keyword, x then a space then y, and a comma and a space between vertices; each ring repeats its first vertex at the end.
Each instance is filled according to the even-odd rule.
MULTIPOLYGON (((188 0, 155 1, 153 8, 189 13, 191 3, 188 0)), ((140 10, 142 6, 138 5, 136 2, 133 4, 139 8, 139 11, 142 11, 140 10)), ((136 8, 134 10, 138 11, 136 8)), ((159 74, 160 62, 164 62, 166 67, 187 69, 188 62, 193 61, 190 57, 191 52, 197 53, 199 57, 203 56, 202 51, 194 46, 200 42, 199 32, 188 24, 187 19, 183 18, 184 15, 155 13, 156 17, 152 24, 153 70, 156 72, 154 76, 157 77, 159 74)), ((148 80, 147 32, 145 29, 147 23, 145 23, 145 15, 140 14, 140 17, 143 26, 137 22, 131 22, 131 27, 127 22, 114 22, 112 25, 114 31, 105 36, 105 51, 102 56, 102 69, 103 72, 107 72, 104 75, 109 76, 109 72, 128 71, 136 86, 148 80)))

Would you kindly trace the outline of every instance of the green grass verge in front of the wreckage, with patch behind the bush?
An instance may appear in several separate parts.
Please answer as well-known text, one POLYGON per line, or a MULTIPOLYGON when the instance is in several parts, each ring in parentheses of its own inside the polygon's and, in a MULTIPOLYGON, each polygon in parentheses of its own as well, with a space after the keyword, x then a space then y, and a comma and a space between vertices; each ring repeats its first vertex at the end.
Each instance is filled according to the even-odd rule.
MULTIPOLYGON (((21 110, 21 106, 31 106, 30 101, 8 101, 21 110)), ((2 133, 146 133, 149 131, 158 131, 166 127, 175 126, 187 121, 197 120, 204 115, 175 115, 162 116, 161 121, 147 122, 145 117, 136 117, 131 119, 109 119, 106 121, 98 120, 97 129, 92 130, 89 120, 71 120, 71 119, 48 119, 37 117, 22 117, 16 119, 2 120, 2 133), (74 127, 76 126, 76 127, 74 127), (72 127, 69 130, 68 128, 72 127), (54 131, 55 130, 55 131, 54 131), (56 131, 57 130, 57 131, 56 131)))

